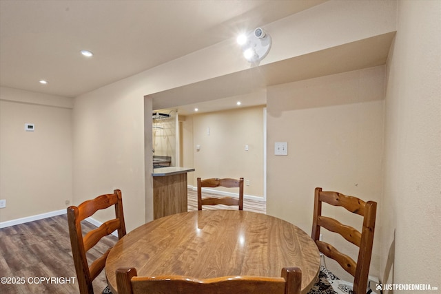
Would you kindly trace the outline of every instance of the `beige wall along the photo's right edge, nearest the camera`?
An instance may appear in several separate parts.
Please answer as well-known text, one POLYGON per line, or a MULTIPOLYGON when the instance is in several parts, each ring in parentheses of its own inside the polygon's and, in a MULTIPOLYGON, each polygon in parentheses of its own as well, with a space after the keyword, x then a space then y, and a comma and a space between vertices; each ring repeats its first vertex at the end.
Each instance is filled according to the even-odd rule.
POLYGON ((438 292, 440 36, 441 1, 398 2, 398 32, 387 71, 384 201, 380 207, 384 282, 431 284, 438 286, 438 292))

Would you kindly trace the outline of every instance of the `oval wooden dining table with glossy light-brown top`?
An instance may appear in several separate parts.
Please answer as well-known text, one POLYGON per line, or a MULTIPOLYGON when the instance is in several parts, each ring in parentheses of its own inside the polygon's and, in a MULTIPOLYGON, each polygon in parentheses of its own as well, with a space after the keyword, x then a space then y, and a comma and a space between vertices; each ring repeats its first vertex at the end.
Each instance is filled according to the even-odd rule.
POLYGON ((116 269, 134 267, 139 276, 227 275, 280 277, 284 266, 302 270, 302 293, 316 282, 320 254, 301 229, 280 218, 238 210, 178 213, 127 233, 105 263, 107 283, 116 287, 116 269))

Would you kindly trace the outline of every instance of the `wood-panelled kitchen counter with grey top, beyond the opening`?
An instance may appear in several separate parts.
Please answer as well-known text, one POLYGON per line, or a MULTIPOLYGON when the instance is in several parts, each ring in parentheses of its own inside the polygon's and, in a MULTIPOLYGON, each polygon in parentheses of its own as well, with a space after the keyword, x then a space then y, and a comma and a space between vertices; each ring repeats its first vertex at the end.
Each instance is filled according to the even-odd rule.
POLYGON ((158 167, 153 169, 153 218, 187 212, 188 167, 158 167))

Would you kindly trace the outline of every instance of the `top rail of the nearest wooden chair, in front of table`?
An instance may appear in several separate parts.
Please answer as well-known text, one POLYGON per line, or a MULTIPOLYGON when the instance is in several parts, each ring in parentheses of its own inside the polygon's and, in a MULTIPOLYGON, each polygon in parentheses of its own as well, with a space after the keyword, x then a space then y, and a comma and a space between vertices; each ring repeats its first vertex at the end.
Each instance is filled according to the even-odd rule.
POLYGON ((283 268, 281 277, 230 276, 195 279, 184 276, 138 277, 136 269, 117 269, 119 294, 300 294, 302 272, 283 268))

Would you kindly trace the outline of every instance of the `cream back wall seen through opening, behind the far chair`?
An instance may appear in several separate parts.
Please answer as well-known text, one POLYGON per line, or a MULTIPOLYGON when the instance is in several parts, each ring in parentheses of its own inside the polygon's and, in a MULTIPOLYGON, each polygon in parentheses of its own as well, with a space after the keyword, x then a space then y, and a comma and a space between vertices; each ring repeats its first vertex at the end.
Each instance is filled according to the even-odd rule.
POLYGON ((249 181, 245 195, 263 198, 263 106, 197 114, 192 121, 193 182, 198 177, 244 178, 249 181))

